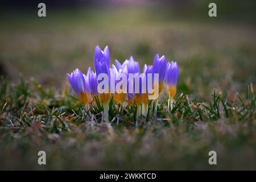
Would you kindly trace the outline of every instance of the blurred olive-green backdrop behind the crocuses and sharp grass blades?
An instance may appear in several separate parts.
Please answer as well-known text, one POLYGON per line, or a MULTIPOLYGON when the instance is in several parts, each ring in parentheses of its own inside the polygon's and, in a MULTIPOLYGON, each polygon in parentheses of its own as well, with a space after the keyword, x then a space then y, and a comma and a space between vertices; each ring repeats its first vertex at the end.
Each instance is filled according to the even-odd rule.
POLYGON ((143 65, 156 53, 180 67, 178 92, 207 100, 213 90, 233 97, 255 82, 255 1, 76 0, 1 1, 0 74, 34 77, 63 88, 66 73, 93 67, 94 48, 110 47, 111 61, 131 55, 143 65), (38 17, 44 2, 47 17, 38 17))

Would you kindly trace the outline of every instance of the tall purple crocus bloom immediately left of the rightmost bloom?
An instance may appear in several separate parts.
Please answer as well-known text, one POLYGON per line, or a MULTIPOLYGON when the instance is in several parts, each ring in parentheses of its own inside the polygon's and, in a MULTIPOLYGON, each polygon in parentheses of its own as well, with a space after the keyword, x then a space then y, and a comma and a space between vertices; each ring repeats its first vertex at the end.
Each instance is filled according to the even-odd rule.
POLYGON ((159 92, 158 93, 160 93, 162 91, 164 78, 166 76, 166 56, 162 56, 160 58, 158 54, 155 56, 154 63, 153 63, 153 73, 159 74, 159 81, 158 81, 159 92))

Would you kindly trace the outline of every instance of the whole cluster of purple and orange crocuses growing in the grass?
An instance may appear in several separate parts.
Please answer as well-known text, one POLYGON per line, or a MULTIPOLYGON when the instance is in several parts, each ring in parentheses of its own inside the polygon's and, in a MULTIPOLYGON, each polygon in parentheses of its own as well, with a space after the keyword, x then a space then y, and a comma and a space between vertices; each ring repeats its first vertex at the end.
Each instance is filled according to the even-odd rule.
POLYGON ((162 91, 164 80, 167 82, 169 101, 174 102, 179 69, 174 61, 166 63, 165 56, 159 57, 157 54, 153 65, 145 64, 141 73, 139 63, 134 60, 133 56, 125 60, 123 64, 115 60, 115 65, 110 67, 109 47, 106 46, 102 51, 97 46, 94 53, 94 69, 95 72, 89 67, 86 75, 76 69, 67 76, 74 92, 86 108, 94 106, 95 100, 104 106, 102 120, 108 121, 109 119, 111 97, 117 105, 124 106, 125 103, 130 106, 136 105, 137 118, 141 115, 146 116, 149 100, 154 100, 153 103, 157 105, 158 94, 155 93, 162 91), (109 80, 106 81, 104 76, 109 80), (114 82, 110 81, 113 77, 114 82), (138 80, 138 88, 135 86, 135 80, 138 80), (103 82, 105 84, 102 84, 103 82), (145 88, 142 86, 143 83, 146 85, 145 88), (155 97, 151 97, 152 95, 155 97))

